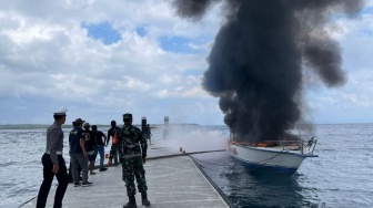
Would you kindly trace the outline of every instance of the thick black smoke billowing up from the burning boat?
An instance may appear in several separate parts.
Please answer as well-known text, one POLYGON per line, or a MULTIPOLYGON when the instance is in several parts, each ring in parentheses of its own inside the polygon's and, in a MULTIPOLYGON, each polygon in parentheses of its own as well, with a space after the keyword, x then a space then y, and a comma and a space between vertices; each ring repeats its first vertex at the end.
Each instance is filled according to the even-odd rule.
MULTIPOLYGON (((353 17, 362 0, 222 0, 226 22, 209 55, 203 87, 220 98, 224 123, 245 142, 295 137, 303 119, 305 70, 326 86, 345 82, 340 46, 325 30, 353 17)), ((198 20, 218 0, 175 0, 180 17, 198 20)))

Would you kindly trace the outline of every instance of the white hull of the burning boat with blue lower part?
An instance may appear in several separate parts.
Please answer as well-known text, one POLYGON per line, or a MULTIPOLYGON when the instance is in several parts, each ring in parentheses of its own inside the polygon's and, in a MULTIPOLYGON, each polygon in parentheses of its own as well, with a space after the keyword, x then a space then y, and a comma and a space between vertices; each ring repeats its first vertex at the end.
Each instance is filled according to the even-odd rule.
POLYGON ((317 157, 312 153, 301 153, 283 147, 250 147, 234 144, 230 145, 230 153, 245 165, 286 174, 294 174, 306 157, 317 157))

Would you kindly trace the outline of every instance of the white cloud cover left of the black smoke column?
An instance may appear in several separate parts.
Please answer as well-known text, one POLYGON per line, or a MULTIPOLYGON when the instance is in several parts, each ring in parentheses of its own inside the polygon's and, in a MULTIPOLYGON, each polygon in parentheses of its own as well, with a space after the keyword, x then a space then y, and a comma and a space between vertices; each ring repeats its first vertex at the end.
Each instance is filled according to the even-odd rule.
MULTIPOLYGON (((174 15, 169 1, 67 0, 40 2, 40 7, 30 3, 0 3, 2 123, 49 122, 41 115, 14 118, 19 112, 11 111, 21 108, 12 106, 43 111, 61 104, 71 108, 72 116, 97 117, 94 122, 107 123, 109 116, 93 116, 89 111, 110 116, 120 116, 124 110, 139 116, 147 112, 149 117, 162 119, 172 108, 192 110, 184 106, 193 98, 211 98, 200 86, 209 48, 193 43, 195 49, 204 48, 205 54, 172 53, 163 51, 158 40, 162 35, 213 37, 219 19, 198 24, 182 20, 174 15), (82 23, 103 21, 120 32, 121 41, 104 45, 81 28, 82 23), (144 37, 135 32, 139 27, 145 29, 144 37), (190 71, 199 74, 183 75, 190 71), (170 97, 180 102, 168 105, 170 97), (32 106, 36 101, 40 101, 39 105, 32 106)), ((221 123, 218 113, 216 123, 221 123)), ((188 118, 180 116, 182 119, 188 118)))

